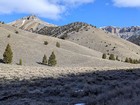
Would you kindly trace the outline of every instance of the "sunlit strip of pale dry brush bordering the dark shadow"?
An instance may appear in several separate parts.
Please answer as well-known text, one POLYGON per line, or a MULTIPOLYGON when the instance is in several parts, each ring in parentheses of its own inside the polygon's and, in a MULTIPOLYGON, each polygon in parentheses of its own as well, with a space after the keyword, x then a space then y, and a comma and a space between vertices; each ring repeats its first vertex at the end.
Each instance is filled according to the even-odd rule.
POLYGON ((119 70, 119 69, 136 69, 140 65, 127 65, 127 66, 110 66, 110 67, 38 67, 38 66, 16 66, 0 64, 0 78, 13 79, 19 78, 32 79, 32 78, 58 78, 61 75, 89 73, 94 71, 106 70, 119 70))

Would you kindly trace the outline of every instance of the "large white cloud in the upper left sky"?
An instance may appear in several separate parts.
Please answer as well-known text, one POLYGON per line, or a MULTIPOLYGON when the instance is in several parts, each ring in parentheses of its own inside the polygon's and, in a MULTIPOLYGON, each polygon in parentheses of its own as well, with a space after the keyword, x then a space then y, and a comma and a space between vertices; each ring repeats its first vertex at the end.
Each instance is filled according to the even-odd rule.
POLYGON ((58 19, 68 9, 94 0, 0 0, 0 14, 35 14, 50 19, 58 19))

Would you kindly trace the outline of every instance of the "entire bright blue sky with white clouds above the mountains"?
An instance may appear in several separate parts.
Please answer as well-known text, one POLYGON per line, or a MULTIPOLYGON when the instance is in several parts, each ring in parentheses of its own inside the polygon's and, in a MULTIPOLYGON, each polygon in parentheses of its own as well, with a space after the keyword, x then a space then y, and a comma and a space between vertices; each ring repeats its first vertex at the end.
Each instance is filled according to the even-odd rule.
POLYGON ((75 21, 102 26, 140 26, 140 0, 1 0, 6 23, 35 14, 56 25, 75 21), (23 2, 24 1, 24 2, 23 2))

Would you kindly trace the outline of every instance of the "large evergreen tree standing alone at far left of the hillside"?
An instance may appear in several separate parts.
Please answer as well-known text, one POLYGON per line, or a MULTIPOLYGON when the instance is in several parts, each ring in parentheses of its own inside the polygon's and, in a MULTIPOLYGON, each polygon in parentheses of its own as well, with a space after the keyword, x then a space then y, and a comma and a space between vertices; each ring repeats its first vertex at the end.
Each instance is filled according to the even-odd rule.
POLYGON ((13 52, 11 50, 11 46, 8 44, 3 54, 3 62, 10 64, 12 63, 12 58, 13 58, 13 52))

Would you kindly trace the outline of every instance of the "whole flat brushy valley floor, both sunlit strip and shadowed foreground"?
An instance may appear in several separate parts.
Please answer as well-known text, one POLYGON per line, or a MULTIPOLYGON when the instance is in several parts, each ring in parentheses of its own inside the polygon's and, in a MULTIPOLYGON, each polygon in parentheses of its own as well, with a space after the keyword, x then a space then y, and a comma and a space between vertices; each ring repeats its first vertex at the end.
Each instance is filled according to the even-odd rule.
POLYGON ((139 105, 140 67, 0 65, 0 105, 139 105))

